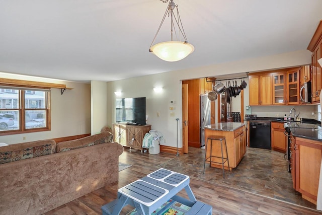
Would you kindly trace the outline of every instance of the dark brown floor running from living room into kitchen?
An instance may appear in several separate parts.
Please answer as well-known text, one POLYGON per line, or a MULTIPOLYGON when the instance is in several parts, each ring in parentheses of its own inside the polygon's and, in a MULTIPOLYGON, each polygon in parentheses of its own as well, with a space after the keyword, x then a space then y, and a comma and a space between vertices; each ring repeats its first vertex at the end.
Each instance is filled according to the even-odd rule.
MULTIPOLYGON (((314 204, 302 199, 291 187, 283 154, 248 148, 245 158, 233 171, 206 165, 204 150, 189 148, 188 155, 150 155, 139 151, 124 153, 119 161, 132 166, 119 172, 119 181, 55 208, 53 214, 102 214, 101 206, 117 197, 117 190, 147 174, 166 168, 190 176, 196 198, 213 206, 213 214, 322 214, 314 204)), ((185 191, 179 195, 187 197, 185 191)), ((121 214, 133 208, 126 206, 121 214)))

